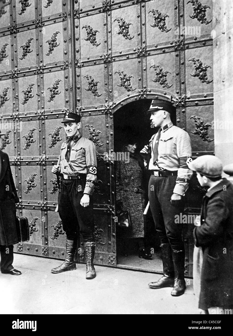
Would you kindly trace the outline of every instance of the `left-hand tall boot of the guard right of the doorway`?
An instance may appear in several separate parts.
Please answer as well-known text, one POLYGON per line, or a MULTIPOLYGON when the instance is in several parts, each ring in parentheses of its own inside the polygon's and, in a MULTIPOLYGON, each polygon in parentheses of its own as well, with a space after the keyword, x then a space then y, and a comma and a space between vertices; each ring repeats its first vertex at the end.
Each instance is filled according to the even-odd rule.
POLYGON ((148 286, 152 289, 173 287, 174 285, 174 266, 172 261, 172 249, 169 243, 161 244, 162 267, 164 275, 155 282, 150 282, 148 286))

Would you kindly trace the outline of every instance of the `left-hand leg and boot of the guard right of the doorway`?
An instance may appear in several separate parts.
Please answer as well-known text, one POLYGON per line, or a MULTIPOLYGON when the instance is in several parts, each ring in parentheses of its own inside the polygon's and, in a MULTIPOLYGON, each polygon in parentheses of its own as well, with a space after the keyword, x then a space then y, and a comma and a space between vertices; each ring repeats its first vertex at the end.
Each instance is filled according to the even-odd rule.
POLYGON ((150 282, 148 286, 153 289, 163 287, 173 287, 174 285, 174 266, 172 260, 172 251, 167 237, 164 220, 162 218, 162 210, 157 197, 158 183, 161 177, 151 176, 148 186, 148 196, 150 209, 155 223, 155 229, 158 232, 161 241, 162 265, 164 276, 156 282, 150 282))

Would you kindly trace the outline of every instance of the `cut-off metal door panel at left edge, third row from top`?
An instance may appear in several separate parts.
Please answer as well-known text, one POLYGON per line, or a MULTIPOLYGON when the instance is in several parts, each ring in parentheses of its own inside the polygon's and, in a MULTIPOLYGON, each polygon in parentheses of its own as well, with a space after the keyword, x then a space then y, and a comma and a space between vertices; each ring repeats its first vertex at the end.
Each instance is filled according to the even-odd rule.
POLYGON ((9 115, 12 113, 12 96, 13 96, 13 90, 12 90, 12 81, 11 79, 7 79, 4 81, 0 81, 0 94, 2 96, 5 96, 5 98, 1 99, 1 108, 0 108, 0 115, 4 117, 4 115, 9 115))

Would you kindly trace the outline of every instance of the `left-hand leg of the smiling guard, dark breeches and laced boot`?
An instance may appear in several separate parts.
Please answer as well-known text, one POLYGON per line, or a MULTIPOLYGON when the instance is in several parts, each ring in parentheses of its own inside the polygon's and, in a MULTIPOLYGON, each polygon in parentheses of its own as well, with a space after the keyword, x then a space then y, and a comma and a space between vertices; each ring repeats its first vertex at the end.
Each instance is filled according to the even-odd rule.
POLYGON ((74 261, 75 251, 77 247, 78 223, 73 211, 72 203, 69 198, 68 186, 73 181, 61 182, 61 190, 58 195, 58 212, 62 221, 63 230, 66 233, 66 255, 65 261, 51 270, 52 273, 61 273, 68 270, 76 269, 74 261))

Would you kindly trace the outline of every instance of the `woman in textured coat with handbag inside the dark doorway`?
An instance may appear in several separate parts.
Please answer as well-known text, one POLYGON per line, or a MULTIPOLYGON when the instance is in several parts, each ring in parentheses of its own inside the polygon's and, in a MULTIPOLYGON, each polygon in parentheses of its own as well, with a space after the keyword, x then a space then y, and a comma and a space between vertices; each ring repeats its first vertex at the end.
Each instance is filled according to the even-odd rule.
POLYGON ((116 201, 121 200, 124 211, 129 211, 132 226, 121 232, 123 255, 128 255, 128 238, 136 238, 139 245, 139 258, 150 259, 144 246, 145 178, 143 160, 135 152, 137 143, 134 138, 123 145, 125 161, 116 162, 116 201))

